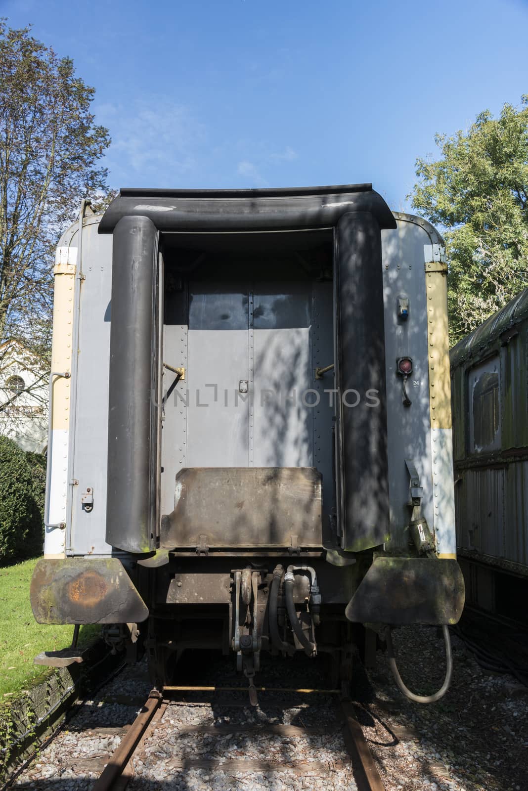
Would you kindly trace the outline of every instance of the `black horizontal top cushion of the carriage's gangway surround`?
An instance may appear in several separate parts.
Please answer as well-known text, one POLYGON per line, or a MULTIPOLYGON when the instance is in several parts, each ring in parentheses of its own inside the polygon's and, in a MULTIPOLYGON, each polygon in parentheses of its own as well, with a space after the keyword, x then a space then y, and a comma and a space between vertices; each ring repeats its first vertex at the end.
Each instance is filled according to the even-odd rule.
POLYGON ((123 189, 100 222, 111 233, 126 216, 147 217, 160 231, 207 233, 329 228, 341 214, 369 212, 380 228, 394 215, 371 184, 255 190, 123 189))

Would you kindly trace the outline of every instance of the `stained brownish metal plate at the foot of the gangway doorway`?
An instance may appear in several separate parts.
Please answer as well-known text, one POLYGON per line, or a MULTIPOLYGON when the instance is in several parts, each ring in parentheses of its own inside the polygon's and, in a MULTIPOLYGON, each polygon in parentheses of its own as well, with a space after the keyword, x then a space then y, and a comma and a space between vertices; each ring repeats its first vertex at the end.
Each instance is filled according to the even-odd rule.
POLYGON ((309 467, 202 467, 176 476, 160 546, 322 545, 321 476, 309 467), (202 538, 203 537, 203 538, 202 538))

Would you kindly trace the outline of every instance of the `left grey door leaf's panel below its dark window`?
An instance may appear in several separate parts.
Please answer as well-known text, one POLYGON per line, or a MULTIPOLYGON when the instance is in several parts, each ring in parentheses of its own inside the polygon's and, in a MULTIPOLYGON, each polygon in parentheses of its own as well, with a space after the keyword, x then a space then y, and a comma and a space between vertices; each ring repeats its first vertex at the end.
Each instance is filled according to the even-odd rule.
POLYGON ((247 330, 190 328, 187 466, 247 467, 249 397, 239 381, 248 370, 247 330))

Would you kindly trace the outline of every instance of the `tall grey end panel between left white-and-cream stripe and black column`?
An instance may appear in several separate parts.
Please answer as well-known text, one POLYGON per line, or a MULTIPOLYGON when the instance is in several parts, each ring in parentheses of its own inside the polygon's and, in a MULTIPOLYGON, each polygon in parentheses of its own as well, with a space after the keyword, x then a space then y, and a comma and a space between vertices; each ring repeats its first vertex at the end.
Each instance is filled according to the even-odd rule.
POLYGON ((79 311, 77 405, 72 487, 72 554, 107 554, 108 376, 110 360, 111 237, 97 235, 98 218, 85 221, 79 311), (93 492, 93 508, 81 496, 93 492))

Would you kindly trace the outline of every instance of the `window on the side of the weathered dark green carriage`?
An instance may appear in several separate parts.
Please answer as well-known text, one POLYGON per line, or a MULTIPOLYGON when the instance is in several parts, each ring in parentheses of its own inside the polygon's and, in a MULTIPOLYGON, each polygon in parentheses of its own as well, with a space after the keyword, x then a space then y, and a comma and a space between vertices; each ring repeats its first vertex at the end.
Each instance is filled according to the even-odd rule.
POLYGON ((500 448, 500 363, 491 358, 469 374, 470 451, 484 453, 500 448))

